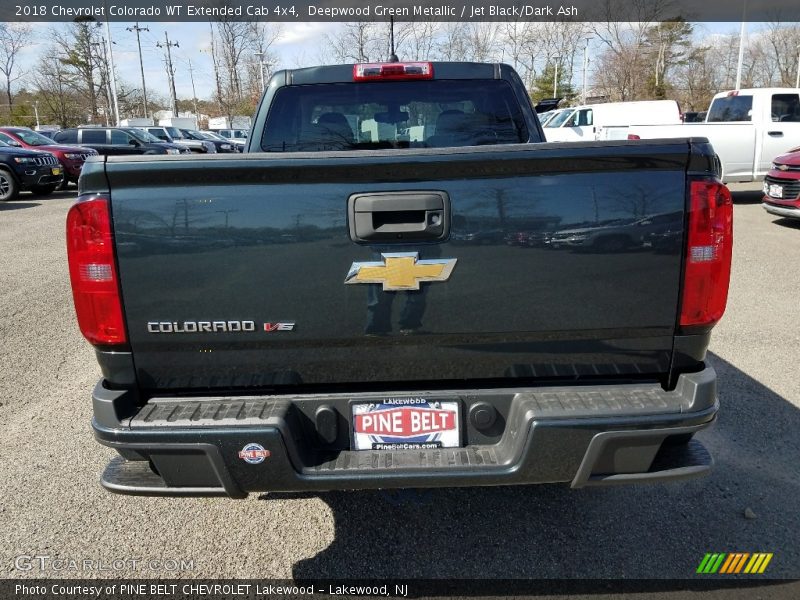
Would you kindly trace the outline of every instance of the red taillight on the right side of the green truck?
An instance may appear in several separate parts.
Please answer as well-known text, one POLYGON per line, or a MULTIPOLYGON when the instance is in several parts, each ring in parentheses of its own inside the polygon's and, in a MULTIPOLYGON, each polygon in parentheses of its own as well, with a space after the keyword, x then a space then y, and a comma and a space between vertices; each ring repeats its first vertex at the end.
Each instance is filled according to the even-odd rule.
POLYGON ((725 312, 731 278, 733 201, 727 187, 714 180, 690 183, 688 228, 680 324, 711 326, 725 312))

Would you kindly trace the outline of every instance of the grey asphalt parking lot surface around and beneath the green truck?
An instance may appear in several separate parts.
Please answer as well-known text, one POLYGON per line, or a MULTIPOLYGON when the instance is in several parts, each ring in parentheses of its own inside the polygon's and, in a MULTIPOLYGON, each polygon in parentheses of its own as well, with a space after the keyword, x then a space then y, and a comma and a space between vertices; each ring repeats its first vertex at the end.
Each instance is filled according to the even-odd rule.
POLYGON ((707 552, 771 552, 768 576, 800 577, 800 222, 767 215, 758 193, 735 195, 728 312, 709 356, 721 411, 699 435, 716 458, 710 476, 241 501, 99 486, 114 453, 89 426, 100 373, 69 290, 73 198, 0 204, 0 577, 691 579, 707 552), (34 554, 141 562, 122 572, 20 565, 34 554))

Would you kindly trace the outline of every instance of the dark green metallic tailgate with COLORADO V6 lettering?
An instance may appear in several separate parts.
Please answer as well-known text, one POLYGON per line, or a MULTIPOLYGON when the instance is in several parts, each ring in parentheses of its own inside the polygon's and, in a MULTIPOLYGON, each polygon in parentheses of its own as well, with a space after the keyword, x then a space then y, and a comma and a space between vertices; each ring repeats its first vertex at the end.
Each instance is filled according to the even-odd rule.
POLYGON ((111 159, 139 384, 662 377, 688 157, 676 140, 111 159), (448 240, 355 243, 348 198, 382 192, 445 198, 448 240), (449 277, 384 256, 398 253, 449 277), (420 289, 353 282, 358 263, 420 289))

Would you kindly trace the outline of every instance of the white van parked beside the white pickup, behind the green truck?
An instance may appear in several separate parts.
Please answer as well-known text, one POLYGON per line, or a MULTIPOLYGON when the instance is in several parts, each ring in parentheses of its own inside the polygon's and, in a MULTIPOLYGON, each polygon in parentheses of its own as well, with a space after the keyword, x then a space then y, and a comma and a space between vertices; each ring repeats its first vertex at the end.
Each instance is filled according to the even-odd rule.
POLYGON ((631 125, 679 125, 675 100, 608 102, 565 110, 544 126, 548 142, 624 140, 631 125))

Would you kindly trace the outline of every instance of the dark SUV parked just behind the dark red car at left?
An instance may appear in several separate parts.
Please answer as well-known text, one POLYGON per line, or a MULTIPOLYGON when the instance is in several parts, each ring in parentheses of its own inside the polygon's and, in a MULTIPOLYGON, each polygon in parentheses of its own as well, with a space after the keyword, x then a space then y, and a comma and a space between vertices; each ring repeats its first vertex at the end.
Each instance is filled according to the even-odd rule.
POLYGON ((79 144, 103 155, 117 154, 189 154, 186 146, 162 142, 136 127, 74 127, 62 129, 56 142, 79 144))

